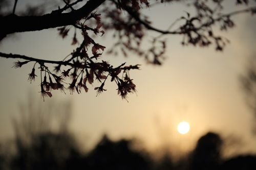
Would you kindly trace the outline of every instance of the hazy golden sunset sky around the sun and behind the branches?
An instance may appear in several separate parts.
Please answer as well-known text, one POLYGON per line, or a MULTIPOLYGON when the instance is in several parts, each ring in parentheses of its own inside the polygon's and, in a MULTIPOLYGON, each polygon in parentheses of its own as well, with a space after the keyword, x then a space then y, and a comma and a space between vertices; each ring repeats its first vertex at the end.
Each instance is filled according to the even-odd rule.
MULTIPOLYGON (((26 3, 21 1, 20 6, 26 3)), ((162 5, 143 12, 150 15, 154 26, 164 29, 184 15, 182 7, 162 5)), ((237 9, 230 4, 227 7, 227 12, 237 9)), ((108 90, 97 97, 95 84, 84 94, 54 91, 53 97, 43 102, 39 81, 27 81, 32 63, 14 69, 11 67, 15 59, 0 58, 0 140, 13 137, 12 118, 20 116, 20 104, 26 104, 32 95, 32 105, 43 108, 49 103, 70 101, 69 127, 84 147, 92 147, 103 134, 108 134, 113 139, 138 138, 149 150, 172 148, 173 152, 186 152, 200 136, 214 131, 243 141, 230 153, 256 153, 256 136, 251 132, 255 119, 240 81, 249 58, 256 52, 255 19, 248 14, 235 17, 237 26, 221 33, 231 41, 223 52, 216 52, 213 46, 182 46, 182 37, 166 36, 167 58, 162 66, 148 65, 133 54, 128 58, 104 55, 102 59, 114 66, 123 62, 141 64, 141 70, 130 71, 137 93, 129 95, 129 102, 117 95, 116 86, 110 81, 106 81, 108 90), (177 125, 183 120, 190 124, 186 135, 177 132, 177 125)), ((62 40, 56 29, 18 33, 1 42, 0 51, 60 60, 73 51, 71 40, 72 36, 62 40)), ((106 51, 108 44, 114 42, 110 35, 97 40, 106 46, 106 51)))

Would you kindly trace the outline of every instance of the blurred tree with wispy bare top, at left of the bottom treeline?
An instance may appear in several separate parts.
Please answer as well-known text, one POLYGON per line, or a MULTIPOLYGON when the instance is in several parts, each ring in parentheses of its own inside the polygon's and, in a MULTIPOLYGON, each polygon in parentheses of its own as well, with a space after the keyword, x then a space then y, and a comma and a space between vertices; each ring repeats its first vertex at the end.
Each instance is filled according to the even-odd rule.
POLYGON ((68 130, 70 103, 51 102, 47 106, 36 105, 31 97, 27 105, 20 106, 20 116, 13 121, 16 151, 10 161, 11 169, 77 169, 80 166, 79 146, 68 130))

